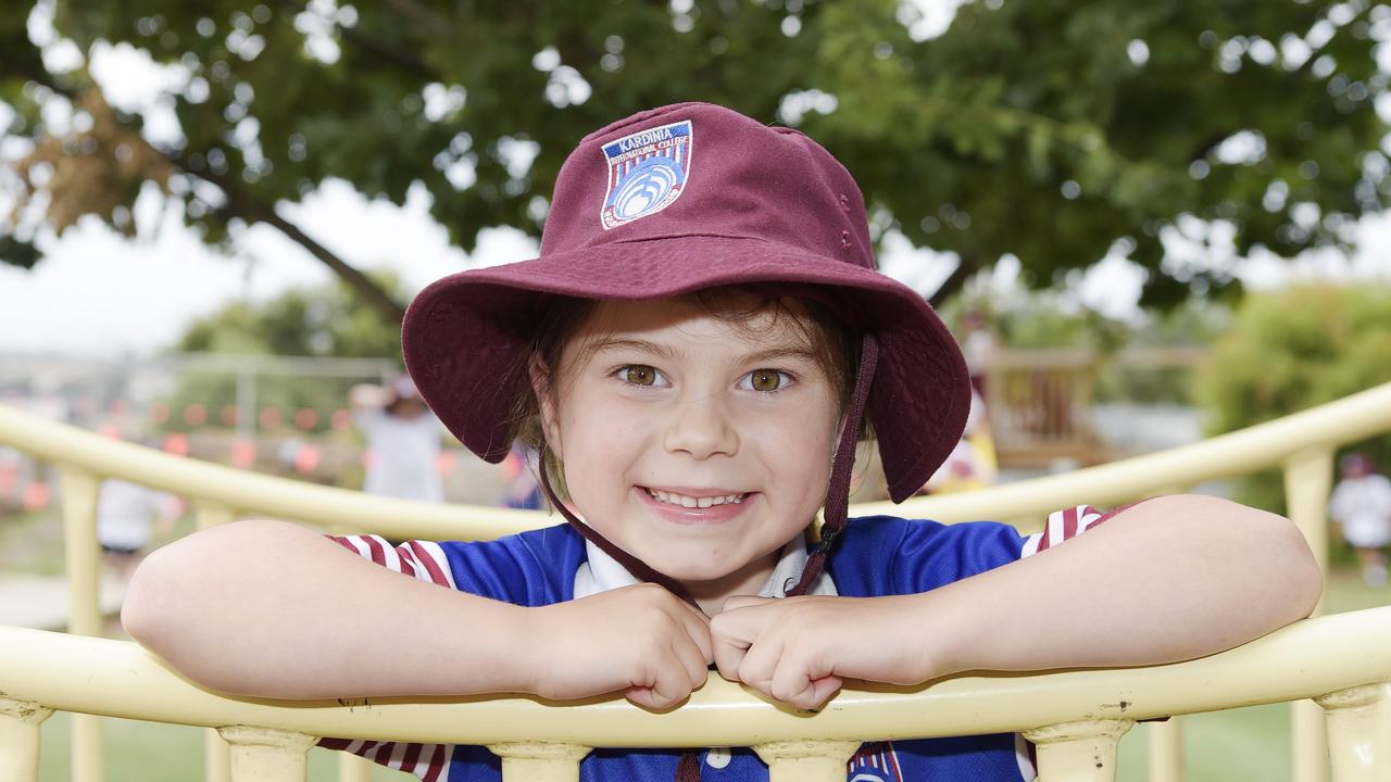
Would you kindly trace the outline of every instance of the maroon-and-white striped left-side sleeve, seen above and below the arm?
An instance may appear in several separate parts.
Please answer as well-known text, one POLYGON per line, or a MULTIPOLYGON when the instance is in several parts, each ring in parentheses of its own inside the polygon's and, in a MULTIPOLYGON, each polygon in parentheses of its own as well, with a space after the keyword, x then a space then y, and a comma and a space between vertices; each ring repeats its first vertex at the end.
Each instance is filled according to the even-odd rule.
MULTIPOLYGON (((438 543, 408 540, 394 547, 384 537, 376 534, 332 534, 328 536, 328 540, 383 568, 455 589, 453 573, 438 543)), ((453 744, 320 739, 319 746, 349 751, 387 768, 415 774, 426 782, 444 779, 449 768, 449 757, 453 754, 453 744)))

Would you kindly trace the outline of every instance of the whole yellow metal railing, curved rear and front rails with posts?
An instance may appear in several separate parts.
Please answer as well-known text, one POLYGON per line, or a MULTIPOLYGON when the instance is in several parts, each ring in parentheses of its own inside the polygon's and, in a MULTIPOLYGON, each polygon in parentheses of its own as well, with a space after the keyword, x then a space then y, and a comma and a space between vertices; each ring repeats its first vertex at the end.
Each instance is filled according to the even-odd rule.
MULTIPOLYGON (((944 522, 1034 520, 1079 501, 1124 502, 1214 477, 1280 466, 1285 474, 1289 516, 1323 558, 1327 551, 1324 504, 1334 451, 1345 442, 1385 431, 1391 431, 1391 384, 1161 454, 981 493, 912 500, 899 506, 857 505, 851 513, 890 512, 944 522)), ((3 405, 0 444, 50 461, 60 469, 72 594, 70 630, 77 635, 100 632, 95 519, 96 491, 107 477, 188 497, 200 526, 262 515, 334 532, 473 540, 552 523, 551 518, 536 512, 402 502, 256 476, 111 441, 3 405)), ((1391 717, 1384 699, 1391 662, 1380 657, 1381 650, 1391 648, 1387 611, 1391 609, 1302 622, 1238 650, 1180 665, 957 678, 911 694, 847 692, 837 696, 833 708, 811 719, 782 712, 721 680, 712 680, 690 704, 666 715, 651 715, 622 701, 544 707, 510 699, 448 705, 374 704, 356 711, 267 705, 220 699, 192 687, 134 644, 0 628, 0 692, 7 693, 0 700, 0 776, 8 778, 19 769, 17 779, 33 778, 29 768, 36 765, 32 753, 36 751, 38 725, 47 710, 60 708, 78 712, 74 715, 72 753, 74 779, 79 782, 104 778, 100 724, 95 717, 82 715, 124 715, 220 728, 221 737, 235 750, 228 750, 223 739, 209 742, 211 781, 300 778, 303 750, 309 746, 305 736, 314 735, 487 743, 505 757, 509 779, 573 779, 574 764, 587 753, 586 747, 612 746, 611 742, 669 747, 754 746, 772 764, 773 779, 811 779, 811 769, 830 779, 844 774, 843 760, 861 739, 1007 729, 1024 729, 1039 743, 1046 782, 1111 779, 1113 764, 1100 758, 1114 757, 1116 740, 1135 719, 1314 697, 1317 704, 1295 703, 1296 782, 1324 779, 1330 751, 1340 782, 1383 779, 1391 778, 1391 751, 1383 746, 1391 740, 1391 717), (1280 654, 1271 654, 1271 648, 1280 654), (124 667, 108 668, 104 657, 95 662, 96 650, 111 655, 110 660, 124 661, 124 667), (1259 668, 1260 660, 1270 660, 1270 667, 1259 668), (1281 660, 1303 662, 1285 665, 1281 660), (83 672, 83 686, 63 696, 60 690, 72 683, 74 671, 83 672), (96 694, 107 692, 107 686, 129 683, 128 678, 139 679, 140 685, 121 690, 127 696, 103 700, 96 694), (117 705, 136 692, 138 699, 117 705), (1127 705, 1121 708, 1124 714, 1110 714, 1106 704, 1127 705), (451 710, 467 711, 469 719, 451 710), (576 710, 594 719, 574 719, 576 710), (851 711, 857 715, 854 719, 836 717, 851 711), (359 721, 351 714, 373 717, 359 721), (508 722, 513 715, 520 717, 508 722), (1324 722, 1331 732, 1328 749, 1323 737, 1324 722), (452 725, 469 725, 469 731, 449 729, 452 725), (515 732, 504 729, 505 725, 513 725, 515 732), (1380 733, 1376 733, 1377 726, 1380 733), (716 735, 722 737, 716 740, 716 735), (300 760, 289 760, 292 757, 300 760), (1366 758, 1376 758, 1381 765, 1370 765, 1366 758), (255 774, 262 775, 253 775, 253 768, 260 768, 255 774), (285 776, 285 769, 291 776, 285 776), (547 769, 547 776, 540 769, 547 769)), ((1180 779, 1178 731, 1173 721, 1153 725, 1150 779, 1180 779)), ((344 769, 345 781, 366 778, 362 764, 349 763, 344 769)))

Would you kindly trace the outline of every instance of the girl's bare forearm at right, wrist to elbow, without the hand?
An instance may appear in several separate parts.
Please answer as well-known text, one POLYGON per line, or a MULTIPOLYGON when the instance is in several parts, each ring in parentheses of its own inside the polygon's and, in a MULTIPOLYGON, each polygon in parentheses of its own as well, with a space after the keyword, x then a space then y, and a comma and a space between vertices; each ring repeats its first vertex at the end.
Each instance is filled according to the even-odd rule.
POLYGON ((1308 616, 1320 590, 1288 520, 1181 495, 921 596, 915 608, 940 672, 1152 665, 1308 616))

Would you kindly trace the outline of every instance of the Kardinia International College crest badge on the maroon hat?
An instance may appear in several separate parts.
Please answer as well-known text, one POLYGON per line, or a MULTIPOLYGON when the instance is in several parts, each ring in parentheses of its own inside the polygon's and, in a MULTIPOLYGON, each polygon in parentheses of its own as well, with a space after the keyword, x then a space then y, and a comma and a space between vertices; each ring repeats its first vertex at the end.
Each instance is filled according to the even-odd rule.
POLYGON ((682 196, 691 171, 691 122, 672 122, 604 145, 604 230, 657 214, 682 196))

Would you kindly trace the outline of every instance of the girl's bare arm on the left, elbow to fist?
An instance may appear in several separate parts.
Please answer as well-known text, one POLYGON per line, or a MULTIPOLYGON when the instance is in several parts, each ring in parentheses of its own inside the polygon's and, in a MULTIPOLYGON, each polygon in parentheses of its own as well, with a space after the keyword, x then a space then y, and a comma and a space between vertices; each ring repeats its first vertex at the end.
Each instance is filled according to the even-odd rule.
POLYGON ((658 587, 523 608, 267 520, 153 552, 121 621, 204 686, 280 699, 626 692, 662 708, 704 683, 711 660, 704 616, 658 587))

